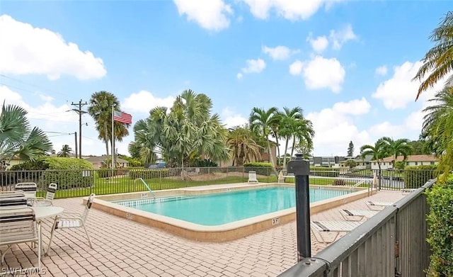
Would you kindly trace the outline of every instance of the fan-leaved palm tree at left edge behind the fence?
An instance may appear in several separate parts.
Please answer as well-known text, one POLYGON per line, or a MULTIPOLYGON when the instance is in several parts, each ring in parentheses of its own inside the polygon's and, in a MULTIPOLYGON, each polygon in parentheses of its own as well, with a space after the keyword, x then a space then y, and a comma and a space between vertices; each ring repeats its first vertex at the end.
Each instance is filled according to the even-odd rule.
POLYGON ((22 161, 33 161, 52 150, 45 132, 40 128, 30 130, 25 109, 3 103, 0 114, 0 161, 9 162, 18 156, 22 161))

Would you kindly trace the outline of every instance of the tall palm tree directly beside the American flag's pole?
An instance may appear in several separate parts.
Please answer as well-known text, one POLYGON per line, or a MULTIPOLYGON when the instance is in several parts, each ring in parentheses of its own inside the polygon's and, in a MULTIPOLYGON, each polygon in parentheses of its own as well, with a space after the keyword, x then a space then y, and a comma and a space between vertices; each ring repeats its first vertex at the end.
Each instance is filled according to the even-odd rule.
MULTIPOLYGON (((108 91, 98 91, 91 94, 88 114, 91 115, 96 123, 98 138, 105 143, 105 153, 108 155, 108 147, 112 145, 112 107, 115 111, 120 111, 120 101, 108 91)), ((115 140, 122 141, 123 137, 129 135, 127 128, 129 125, 115 122, 113 130, 115 140)))

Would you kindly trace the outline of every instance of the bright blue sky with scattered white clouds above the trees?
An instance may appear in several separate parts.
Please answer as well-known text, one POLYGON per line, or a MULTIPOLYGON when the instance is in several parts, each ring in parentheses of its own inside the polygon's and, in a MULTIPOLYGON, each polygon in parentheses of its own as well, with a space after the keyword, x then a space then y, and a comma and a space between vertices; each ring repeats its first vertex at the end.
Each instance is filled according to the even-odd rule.
MULTIPOLYGON (((71 103, 110 91, 132 124, 185 89, 207 94, 227 128, 253 107, 299 106, 314 155, 349 142, 417 140, 425 91, 412 81, 449 1, 0 0, 0 101, 28 111, 56 151, 74 149, 71 103)), ((86 110, 87 106, 84 106, 86 110)), ((82 154, 105 154, 83 115, 82 154)), ((130 135, 116 147, 127 153, 130 135)), ((282 148, 281 148, 282 149, 282 148)))

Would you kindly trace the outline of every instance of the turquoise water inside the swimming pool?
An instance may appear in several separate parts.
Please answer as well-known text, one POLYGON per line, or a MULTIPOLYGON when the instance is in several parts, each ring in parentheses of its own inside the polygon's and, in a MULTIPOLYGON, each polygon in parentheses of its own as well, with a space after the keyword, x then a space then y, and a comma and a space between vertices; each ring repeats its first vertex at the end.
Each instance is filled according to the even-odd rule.
MULTIPOLYGON (((343 196, 347 193, 350 191, 310 188, 310 202, 343 196)), ((296 200, 294 188, 271 187, 202 196, 122 200, 116 203, 200 225, 212 226, 292 208, 295 207, 296 200)))

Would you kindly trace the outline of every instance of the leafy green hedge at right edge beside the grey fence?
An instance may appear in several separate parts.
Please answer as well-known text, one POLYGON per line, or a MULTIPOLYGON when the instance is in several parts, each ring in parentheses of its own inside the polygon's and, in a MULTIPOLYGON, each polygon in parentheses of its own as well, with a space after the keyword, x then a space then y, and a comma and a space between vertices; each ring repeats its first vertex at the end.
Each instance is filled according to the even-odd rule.
POLYGON ((429 276, 453 276, 453 181, 435 184, 427 192, 429 276))

